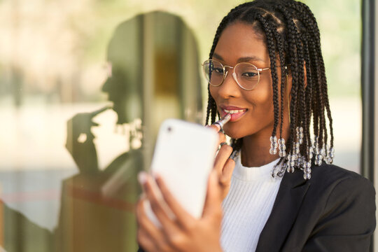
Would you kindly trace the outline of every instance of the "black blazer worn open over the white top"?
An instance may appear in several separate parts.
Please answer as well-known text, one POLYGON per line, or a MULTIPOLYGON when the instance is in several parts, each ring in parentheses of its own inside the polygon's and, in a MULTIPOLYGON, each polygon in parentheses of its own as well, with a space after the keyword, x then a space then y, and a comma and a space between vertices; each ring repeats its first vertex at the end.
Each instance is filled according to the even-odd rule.
POLYGON ((283 176, 256 252, 369 251, 375 229, 372 183, 325 162, 312 167, 308 181, 302 171, 283 176))

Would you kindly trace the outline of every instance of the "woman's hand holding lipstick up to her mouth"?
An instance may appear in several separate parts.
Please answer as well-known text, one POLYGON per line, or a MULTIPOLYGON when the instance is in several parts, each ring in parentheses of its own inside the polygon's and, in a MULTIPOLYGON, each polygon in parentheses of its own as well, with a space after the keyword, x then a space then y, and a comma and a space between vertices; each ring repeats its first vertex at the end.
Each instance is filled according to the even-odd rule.
POLYGON ((232 153, 232 147, 225 143, 225 134, 219 132, 221 128, 218 125, 209 125, 207 126, 211 129, 216 130, 219 135, 218 145, 222 144, 221 148, 219 149, 216 160, 214 162, 214 169, 218 174, 218 182, 221 186, 221 195, 222 200, 228 195, 231 186, 231 176, 232 172, 235 168, 235 161, 230 158, 232 153))

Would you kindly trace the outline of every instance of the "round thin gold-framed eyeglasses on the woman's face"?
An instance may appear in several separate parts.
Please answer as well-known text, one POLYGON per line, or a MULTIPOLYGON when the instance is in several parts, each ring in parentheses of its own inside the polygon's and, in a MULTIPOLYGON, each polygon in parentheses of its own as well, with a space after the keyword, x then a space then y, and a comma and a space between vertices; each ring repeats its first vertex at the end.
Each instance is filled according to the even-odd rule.
POLYGON ((207 59, 202 63, 204 76, 207 82, 214 87, 222 85, 223 80, 227 77, 228 70, 226 70, 226 67, 234 69, 232 77, 237 82, 237 85, 244 90, 253 90, 260 82, 260 72, 270 69, 270 67, 259 69, 257 66, 248 62, 240 62, 234 67, 223 66, 221 62, 214 59, 207 59))

